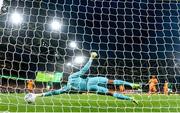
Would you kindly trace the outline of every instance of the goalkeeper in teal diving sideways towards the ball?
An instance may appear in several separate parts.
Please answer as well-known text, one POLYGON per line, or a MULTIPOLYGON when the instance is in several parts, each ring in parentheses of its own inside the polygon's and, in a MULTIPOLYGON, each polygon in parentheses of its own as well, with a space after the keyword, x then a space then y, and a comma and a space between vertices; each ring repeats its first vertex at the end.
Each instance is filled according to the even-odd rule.
POLYGON ((71 89, 77 90, 77 91, 93 91, 96 92, 97 94, 108 94, 111 95, 115 98, 118 99, 123 99, 123 100, 130 100, 136 104, 137 101, 129 96, 125 96, 121 93, 117 93, 114 91, 108 90, 106 87, 103 87, 102 85, 107 85, 107 84, 114 84, 114 85, 127 85, 131 86, 132 88, 139 88, 139 84, 133 84, 130 82, 122 81, 122 80, 109 80, 106 77, 86 77, 84 79, 84 74, 89 70, 91 63, 93 59, 97 56, 96 52, 91 53, 91 57, 87 64, 78 72, 71 74, 68 77, 68 82, 67 85, 61 89, 58 90, 53 90, 49 92, 45 92, 42 94, 35 94, 36 96, 51 96, 51 95, 59 95, 62 93, 67 93, 71 89), (82 78, 83 77, 83 78, 82 78))

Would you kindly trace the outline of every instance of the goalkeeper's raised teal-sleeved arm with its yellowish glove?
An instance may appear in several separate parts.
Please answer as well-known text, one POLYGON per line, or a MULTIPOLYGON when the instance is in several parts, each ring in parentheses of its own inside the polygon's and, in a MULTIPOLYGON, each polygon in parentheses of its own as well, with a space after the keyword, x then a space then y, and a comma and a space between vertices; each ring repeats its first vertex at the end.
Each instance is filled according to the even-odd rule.
POLYGON ((69 78, 76 78, 76 77, 80 77, 83 76, 88 69, 91 67, 92 61, 94 58, 96 58, 97 53, 96 52, 92 52, 89 61, 86 63, 86 65, 78 72, 73 73, 72 75, 69 76, 69 78))

